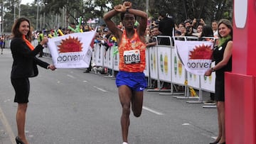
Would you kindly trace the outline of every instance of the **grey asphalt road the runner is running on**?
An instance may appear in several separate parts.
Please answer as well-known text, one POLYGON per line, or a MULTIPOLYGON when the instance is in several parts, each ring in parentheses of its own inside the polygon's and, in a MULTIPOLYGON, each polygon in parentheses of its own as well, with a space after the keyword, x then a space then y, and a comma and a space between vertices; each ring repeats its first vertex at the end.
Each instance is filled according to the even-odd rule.
MULTIPOLYGON (((42 60, 51 62, 50 58, 42 60)), ((0 144, 14 144, 16 109, 10 82, 12 57, 0 55, 0 144)), ((114 79, 83 69, 39 68, 30 79, 26 115, 30 144, 120 144, 121 105, 114 79)), ((161 92, 162 93, 162 92, 161 92)), ((208 93, 203 93, 208 99, 208 93)), ((129 144, 206 144, 217 135, 216 109, 144 91, 142 116, 130 116, 129 144)))

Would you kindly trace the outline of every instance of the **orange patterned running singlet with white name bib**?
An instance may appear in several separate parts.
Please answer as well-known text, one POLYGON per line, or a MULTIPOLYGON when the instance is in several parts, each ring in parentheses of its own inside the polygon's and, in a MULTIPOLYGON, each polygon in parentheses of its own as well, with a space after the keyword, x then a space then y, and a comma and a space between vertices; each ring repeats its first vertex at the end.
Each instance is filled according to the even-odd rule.
POLYGON ((139 39, 137 30, 134 29, 132 39, 127 38, 126 31, 123 31, 122 40, 119 44, 119 71, 143 72, 146 65, 145 51, 146 44, 139 39))

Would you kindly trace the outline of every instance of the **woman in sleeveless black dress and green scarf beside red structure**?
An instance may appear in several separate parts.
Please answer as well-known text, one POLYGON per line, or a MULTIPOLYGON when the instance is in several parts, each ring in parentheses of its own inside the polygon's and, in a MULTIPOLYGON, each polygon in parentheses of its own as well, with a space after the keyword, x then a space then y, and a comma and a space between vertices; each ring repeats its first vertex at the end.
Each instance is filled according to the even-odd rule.
POLYGON ((218 137, 213 143, 225 144, 225 72, 232 70, 233 26, 227 19, 218 23, 218 47, 213 50, 215 66, 206 72, 210 76, 215 72, 215 100, 218 111, 218 137))

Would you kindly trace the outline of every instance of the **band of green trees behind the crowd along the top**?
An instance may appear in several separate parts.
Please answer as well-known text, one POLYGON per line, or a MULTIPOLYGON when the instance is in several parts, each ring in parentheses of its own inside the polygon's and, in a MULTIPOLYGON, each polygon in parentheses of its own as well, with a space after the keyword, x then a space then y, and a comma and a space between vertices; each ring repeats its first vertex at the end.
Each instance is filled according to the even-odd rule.
MULTIPOLYGON (((0 0, 1 4, 3 4, 2 1, 0 0)), ((18 18, 18 1, 4 0, 4 32, 11 32, 11 26, 14 23, 14 6, 16 6, 15 16, 18 18)), ((132 2, 134 9, 146 11, 146 0, 129 1, 132 2)), ((122 3, 123 0, 35 0, 30 5, 21 4, 20 16, 29 18, 33 28, 36 27, 36 21, 38 25, 39 23, 42 25, 41 28, 56 28, 56 23, 60 23, 62 27, 67 27, 70 22, 78 23, 80 16, 82 16, 83 21, 90 18, 102 18, 104 13, 122 3), (36 19, 37 8, 39 8, 38 19, 36 19), (45 14, 44 17, 43 14, 45 14), (45 23, 43 23, 43 18, 45 18, 45 23)), ((149 0, 149 16, 158 18, 160 11, 165 11, 169 16, 173 16, 177 24, 187 18, 203 18, 207 24, 210 24, 211 21, 218 21, 221 18, 232 20, 233 1, 149 0)), ((113 21, 118 24, 119 17, 116 16, 113 21)))

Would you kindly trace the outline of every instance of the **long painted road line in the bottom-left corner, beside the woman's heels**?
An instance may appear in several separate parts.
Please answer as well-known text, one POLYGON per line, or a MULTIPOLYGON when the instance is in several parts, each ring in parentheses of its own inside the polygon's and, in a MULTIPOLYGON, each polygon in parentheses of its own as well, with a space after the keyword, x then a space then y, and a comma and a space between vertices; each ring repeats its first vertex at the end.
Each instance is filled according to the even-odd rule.
POLYGON ((14 132, 11 130, 11 126, 8 123, 7 119, 6 119, 6 116, 4 116, 4 113, 3 113, 2 109, 1 109, 1 107, 0 107, 0 120, 1 120, 1 123, 3 123, 5 130, 6 130, 6 132, 9 135, 11 143, 15 144, 16 141, 14 140, 15 139, 14 132))

